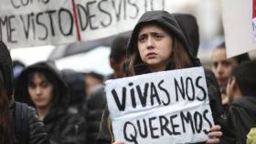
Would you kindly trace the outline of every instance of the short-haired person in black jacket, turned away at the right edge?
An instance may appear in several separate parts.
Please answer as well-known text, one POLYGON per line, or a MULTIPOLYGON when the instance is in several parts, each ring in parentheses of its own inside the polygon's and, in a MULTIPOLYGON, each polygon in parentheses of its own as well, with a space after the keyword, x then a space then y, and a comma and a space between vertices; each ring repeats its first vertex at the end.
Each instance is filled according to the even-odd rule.
POLYGON ((246 143, 256 126, 256 60, 234 67, 227 86, 230 106, 227 125, 235 133, 236 144, 246 143))

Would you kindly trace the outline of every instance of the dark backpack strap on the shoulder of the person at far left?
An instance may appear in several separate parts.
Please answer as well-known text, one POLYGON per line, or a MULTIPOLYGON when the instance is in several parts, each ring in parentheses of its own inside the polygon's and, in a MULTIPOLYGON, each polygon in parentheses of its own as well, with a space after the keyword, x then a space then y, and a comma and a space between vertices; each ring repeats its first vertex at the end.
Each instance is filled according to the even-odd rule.
POLYGON ((20 144, 27 143, 27 104, 16 102, 16 138, 20 144))

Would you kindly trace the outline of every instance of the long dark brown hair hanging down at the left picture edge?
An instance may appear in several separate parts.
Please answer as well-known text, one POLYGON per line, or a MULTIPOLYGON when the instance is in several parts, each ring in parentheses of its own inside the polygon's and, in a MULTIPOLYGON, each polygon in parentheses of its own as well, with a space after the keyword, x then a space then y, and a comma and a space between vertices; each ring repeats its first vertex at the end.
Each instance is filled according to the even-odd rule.
POLYGON ((13 131, 9 116, 9 100, 3 81, 0 80, 0 143, 13 144, 13 131))

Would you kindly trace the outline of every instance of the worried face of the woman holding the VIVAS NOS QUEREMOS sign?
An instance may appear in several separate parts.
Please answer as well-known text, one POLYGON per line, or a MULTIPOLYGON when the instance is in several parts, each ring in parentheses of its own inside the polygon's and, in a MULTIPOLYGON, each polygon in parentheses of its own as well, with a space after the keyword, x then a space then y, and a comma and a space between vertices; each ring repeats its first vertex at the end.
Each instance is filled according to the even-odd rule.
POLYGON ((141 59, 153 72, 165 70, 173 51, 173 40, 164 29, 154 24, 144 26, 137 46, 141 59))

